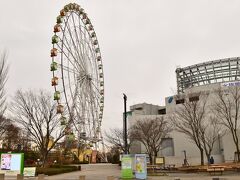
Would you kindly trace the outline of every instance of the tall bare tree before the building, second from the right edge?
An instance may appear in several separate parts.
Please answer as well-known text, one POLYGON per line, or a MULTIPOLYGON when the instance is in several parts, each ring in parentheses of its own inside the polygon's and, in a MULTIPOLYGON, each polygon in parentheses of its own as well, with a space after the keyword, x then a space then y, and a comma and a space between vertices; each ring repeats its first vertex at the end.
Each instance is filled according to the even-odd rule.
POLYGON ((209 162, 214 144, 222 131, 222 126, 210 111, 208 98, 207 93, 190 92, 170 117, 175 129, 185 134, 199 149, 201 165, 204 165, 204 152, 209 162))

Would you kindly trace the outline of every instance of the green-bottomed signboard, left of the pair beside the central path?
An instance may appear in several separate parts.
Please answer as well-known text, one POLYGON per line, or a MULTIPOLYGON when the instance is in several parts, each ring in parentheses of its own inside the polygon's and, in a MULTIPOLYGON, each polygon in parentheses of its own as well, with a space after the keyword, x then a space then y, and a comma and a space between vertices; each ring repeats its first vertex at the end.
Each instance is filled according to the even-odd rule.
POLYGON ((122 178, 123 179, 133 178, 132 157, 130 155, 124 154, 122 155, 121 162, 122 162, 122 169, 121 169, 122 178))

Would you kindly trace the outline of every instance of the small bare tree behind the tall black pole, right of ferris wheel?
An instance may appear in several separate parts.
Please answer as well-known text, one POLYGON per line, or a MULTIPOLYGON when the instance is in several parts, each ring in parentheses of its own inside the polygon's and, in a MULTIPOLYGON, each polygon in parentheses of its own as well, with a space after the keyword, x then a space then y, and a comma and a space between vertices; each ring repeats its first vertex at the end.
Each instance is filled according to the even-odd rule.
MULTIPOLYGON (((123 139, 123 130, 120 128, 110 129, 110 132, 105 132, 106 141, 113 145, 114 147, 118 147, 121 152, 125 152, 125 145, 123 139)), ((131 141, 129 139, 129 131, 127 132, 128 144, 127 144, 127 152, 129 153, 129 148, 131 145, 131 141)))

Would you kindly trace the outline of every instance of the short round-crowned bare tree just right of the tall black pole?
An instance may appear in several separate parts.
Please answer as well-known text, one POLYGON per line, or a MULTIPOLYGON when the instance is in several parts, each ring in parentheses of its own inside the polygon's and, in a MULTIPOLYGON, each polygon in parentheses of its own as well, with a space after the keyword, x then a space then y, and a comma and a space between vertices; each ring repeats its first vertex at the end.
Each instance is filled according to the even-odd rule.
POLYGON ((150 158, 156 157, 161 149, 162 139, 171 132, 171 125, 167 120, 161 116, 152 118, 145 118, 138 120, 130 129, 130 138, 132 140, 140 141, 145 146, 150 158))

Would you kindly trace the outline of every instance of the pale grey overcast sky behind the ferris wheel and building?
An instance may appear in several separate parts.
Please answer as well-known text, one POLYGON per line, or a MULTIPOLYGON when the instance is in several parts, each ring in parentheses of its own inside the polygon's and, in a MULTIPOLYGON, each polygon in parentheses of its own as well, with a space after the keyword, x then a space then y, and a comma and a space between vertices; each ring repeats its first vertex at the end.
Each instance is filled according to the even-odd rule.
POLYGON ((76 2, 94 25, 103 57, 103 128, 121 127, 123 96, 164 105, 176 91, 177 66, 240 54, 239 0, 0 0, 0 50, 10 63, 7 93, 53 92, 52 29, 65 4, 76 2))

